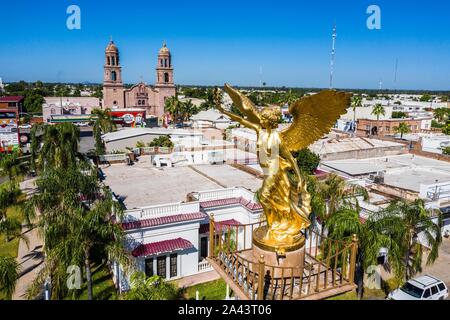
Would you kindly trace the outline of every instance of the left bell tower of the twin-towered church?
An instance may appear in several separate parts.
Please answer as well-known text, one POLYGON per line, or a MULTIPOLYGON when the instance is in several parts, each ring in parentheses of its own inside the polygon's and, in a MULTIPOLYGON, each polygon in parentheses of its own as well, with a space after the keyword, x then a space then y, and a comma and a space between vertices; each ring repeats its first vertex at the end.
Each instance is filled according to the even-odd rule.
POLYGON ((105 65, 103 69, 103 105, 111 109, 124 108, 124 87, 119 49, 117 49, 112 39, 105 50, 105 65))

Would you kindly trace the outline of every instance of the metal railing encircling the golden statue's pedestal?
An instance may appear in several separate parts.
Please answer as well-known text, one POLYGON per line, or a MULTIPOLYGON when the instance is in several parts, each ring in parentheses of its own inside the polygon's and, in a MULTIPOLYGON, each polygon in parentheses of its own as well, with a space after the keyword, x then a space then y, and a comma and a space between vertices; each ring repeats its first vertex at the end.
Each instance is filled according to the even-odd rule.
POLYGON ((307 232, 303 260, 300 259, 303 263, 280 267, 267 264, 263 256, 259 259, 245 257, 253 247, 253 230, 264 224, 235 225, 210 219, 208 259, 247 299, 305 299, 354 285, 358 248, 355 235, 342 241, 307 232))

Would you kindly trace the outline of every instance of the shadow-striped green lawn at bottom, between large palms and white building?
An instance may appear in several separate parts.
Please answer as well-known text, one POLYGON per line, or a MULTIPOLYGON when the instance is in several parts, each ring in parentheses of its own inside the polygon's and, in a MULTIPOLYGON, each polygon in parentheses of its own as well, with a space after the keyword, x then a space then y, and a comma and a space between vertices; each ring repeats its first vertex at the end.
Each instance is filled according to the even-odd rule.
MULTIPOLYGON (((116 300, 117 291, 109 273, 108 267, 104 264, 92 266, 92 282, 94 300, 116 300)), ((81 286, 81 290, 74 292, 73 295, 67 299, 87 300, 87 285, 86 281, 81 286)))

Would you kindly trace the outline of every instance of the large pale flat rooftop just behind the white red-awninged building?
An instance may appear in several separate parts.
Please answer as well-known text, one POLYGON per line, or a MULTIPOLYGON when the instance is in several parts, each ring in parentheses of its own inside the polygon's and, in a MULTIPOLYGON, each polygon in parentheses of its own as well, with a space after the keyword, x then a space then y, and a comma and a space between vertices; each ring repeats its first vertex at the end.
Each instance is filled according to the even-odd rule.
POLYGON ((262 181, 229 165, 194 165, 156 168, 149 156, 141 156, 132 166, 113 164, 101 167, 105 184, 127 209, 185 201, 194 191, 244 187, 256 191, 262 181))

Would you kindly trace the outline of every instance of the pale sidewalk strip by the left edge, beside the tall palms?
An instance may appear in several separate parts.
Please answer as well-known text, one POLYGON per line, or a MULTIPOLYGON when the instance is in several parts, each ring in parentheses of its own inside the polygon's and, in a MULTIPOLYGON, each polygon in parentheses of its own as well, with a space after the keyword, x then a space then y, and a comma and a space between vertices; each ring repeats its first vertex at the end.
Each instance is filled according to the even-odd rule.
MULTIPOLYGON (((35 191, 35 179, 26 180, 21 183, 22 191, 30 195, 35 191)), ((28 229, 22 226, 22 233, 25 234, 29 241, 29 246, 22 239, 19 242, 17 253, 17 262, 20 263, 21 272, 17 280, 16 290, 12 296, 13 300, 25 300, 28 287, 35 279, 37 273, 42 268, 44 255, 42 252, 43 241, 39 235, 38 229, 28 229)))

